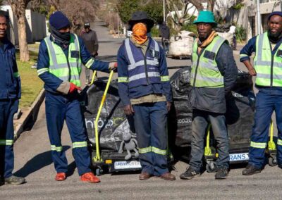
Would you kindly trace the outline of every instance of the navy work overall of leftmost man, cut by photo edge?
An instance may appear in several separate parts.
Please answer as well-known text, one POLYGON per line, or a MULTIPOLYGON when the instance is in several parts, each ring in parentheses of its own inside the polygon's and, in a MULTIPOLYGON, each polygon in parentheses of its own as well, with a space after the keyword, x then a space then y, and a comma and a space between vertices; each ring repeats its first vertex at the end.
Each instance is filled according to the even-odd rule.
POLYGON ((8 39, 0 45, 0 176, 11 177, 14 165, 13 115, 18 111, 20 77, 15 47, 8 39))

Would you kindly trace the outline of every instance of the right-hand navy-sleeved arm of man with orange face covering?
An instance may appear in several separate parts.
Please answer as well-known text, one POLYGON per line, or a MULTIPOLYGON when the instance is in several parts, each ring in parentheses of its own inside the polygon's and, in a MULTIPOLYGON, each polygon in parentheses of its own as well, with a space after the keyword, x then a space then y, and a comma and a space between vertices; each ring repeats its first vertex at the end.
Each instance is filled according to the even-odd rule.
POLYGON ((166 101, 168 102, 168 111, 171 108, 172 94, 171 94, 171 82, 169 81, 168 68, 166 63, 166 54, 164 49, 159 46, 159 74, 161 75, 161 86, 163 88, 164 95, 166 96, 166 101))

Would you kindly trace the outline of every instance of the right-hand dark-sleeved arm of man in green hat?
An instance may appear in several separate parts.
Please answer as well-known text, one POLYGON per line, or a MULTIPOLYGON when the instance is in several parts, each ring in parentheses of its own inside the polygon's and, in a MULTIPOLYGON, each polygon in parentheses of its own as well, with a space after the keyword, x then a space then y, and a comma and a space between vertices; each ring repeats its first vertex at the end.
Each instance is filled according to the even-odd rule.
POLYGON ((227 95, 231 92, 238 76, 238 68, 233 57, 233 50, 227 43, 222 44, 219 52, 216 54, 216 63, 223 75, 224 90, 227 95))

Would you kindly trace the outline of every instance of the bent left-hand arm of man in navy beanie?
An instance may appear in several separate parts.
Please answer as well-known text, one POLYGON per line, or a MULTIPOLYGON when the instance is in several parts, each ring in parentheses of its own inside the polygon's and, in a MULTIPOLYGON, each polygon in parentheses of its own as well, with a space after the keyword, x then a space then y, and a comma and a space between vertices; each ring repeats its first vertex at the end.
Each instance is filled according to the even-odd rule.
POLYGON ((42 40, 39 46, 37 74, 44 82, 44 84, 49 88, 63 94, 68 94, 71 87, 70 82, 63 82, 63 80, 59 79, 59 77, 56 77, 55 75, 49 73, 49 54, 47 45, 44 40, 42 40))

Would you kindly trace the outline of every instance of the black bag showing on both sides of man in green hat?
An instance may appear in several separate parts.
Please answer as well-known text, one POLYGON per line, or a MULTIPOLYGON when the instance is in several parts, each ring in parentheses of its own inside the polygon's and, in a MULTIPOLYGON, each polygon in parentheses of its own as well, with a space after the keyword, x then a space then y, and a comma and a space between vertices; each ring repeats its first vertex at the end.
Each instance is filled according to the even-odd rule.
MULTIPOLYGON (((171 77, 173 108, 168 115, 169 145, 176 159, 188 161, 192 138, 192 108, 189 106, 190 67, 178 70, 171 77)), ((255 94, 252 77, 238 71, 238 78, 232 96, 226 99, 226 123, 230 150, 247 149, 255 113, 255 94)))

